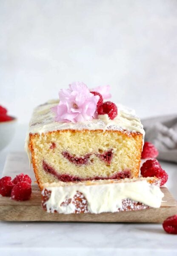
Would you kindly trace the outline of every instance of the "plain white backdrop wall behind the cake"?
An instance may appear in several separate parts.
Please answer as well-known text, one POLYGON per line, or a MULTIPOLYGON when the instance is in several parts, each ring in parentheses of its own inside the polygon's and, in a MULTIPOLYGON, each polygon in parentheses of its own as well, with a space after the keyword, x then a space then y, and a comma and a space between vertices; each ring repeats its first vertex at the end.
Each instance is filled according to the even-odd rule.
POLYGON ((20 123, 72 81, 177 112, 177 1, 0 0, 0 104, 20 123))

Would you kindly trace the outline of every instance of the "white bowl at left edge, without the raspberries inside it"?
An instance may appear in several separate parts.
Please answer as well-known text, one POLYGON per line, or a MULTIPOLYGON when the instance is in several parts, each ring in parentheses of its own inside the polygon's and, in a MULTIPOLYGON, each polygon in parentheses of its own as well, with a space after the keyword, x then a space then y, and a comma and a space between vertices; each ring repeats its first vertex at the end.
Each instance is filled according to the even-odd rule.
POLYGON ((17 118, 10 121, 0 122, 0 150, 6 147, 14 137, 17 118))

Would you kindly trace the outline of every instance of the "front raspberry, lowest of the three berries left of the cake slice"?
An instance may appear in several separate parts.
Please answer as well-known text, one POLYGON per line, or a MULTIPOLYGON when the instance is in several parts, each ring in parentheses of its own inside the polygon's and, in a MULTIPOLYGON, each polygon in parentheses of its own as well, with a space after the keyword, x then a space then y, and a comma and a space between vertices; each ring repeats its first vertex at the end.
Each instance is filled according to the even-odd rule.
POLYGON ((11 199, 16 201, 29 200, 31 196, 31 185, 25 181, 18 182, 11 190, 11 199))

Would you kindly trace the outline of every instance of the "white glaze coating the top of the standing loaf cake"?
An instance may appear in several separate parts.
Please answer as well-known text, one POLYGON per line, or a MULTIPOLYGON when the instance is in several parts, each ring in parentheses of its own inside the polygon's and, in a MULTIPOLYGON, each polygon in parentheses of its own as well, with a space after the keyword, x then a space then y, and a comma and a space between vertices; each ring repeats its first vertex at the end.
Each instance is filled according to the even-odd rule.
POLYGON ((121 104, 117 104, 118 115, 111 120, 108 115, 98 115, 97 119, 84 122, 58 122, 54 121, 54 112, 51 107, 56 106, 58 100, 51 100, 34 109, 29 124, 29 133, 46 133, 56 130, 74 129, 74 130, 126 130, 127 132, 140 132, 144 137, 144 129, 140 118, 137 117, 133 109, 129 109, 121 104))

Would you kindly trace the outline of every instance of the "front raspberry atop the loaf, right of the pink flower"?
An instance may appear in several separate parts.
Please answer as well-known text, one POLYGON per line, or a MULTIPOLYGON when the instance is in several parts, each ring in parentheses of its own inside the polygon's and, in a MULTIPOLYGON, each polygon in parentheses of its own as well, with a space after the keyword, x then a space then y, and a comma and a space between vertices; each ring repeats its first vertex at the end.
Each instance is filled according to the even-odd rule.
POLYGON ((108 114, 108 117, 113 120, 117 116, 117 106, 111 101, 106 101, 97 109, 98 115, 108 114))

